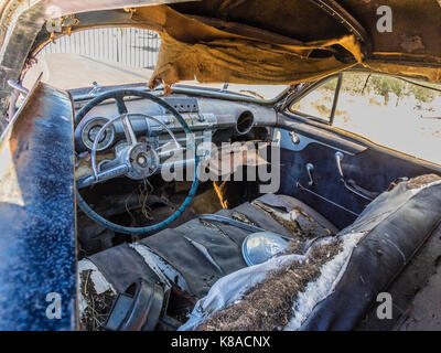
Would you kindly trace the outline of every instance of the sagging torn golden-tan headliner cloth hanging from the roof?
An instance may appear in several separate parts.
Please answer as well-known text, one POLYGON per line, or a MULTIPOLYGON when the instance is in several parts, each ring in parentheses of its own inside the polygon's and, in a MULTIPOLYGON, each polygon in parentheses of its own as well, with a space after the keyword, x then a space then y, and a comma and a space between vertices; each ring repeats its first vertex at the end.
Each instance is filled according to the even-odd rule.
POLYGON ((209 25, 165 6, 138 9, 132 20, 161 35, 158 64, 149 82, 151 87, 193 79, 203 83, 297 83, 320 78, 363 61, 361 45, 352 34, 300 42, 239 24, 230 24, 226 31, 215 26, 222 21, 212 19, 209 25), (344 47, 352 58, 342 62, 333 55, 310 56, 313 50, 333 51, 334 45, 344 47))

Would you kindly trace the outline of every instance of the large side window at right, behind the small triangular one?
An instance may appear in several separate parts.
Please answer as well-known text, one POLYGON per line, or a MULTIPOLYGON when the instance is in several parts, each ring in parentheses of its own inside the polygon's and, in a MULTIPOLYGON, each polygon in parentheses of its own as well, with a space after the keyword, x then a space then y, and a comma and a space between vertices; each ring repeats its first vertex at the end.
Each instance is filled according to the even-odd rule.
POLYGON ((344 73, 333 126, 441 164, 440 89, 387 75, 344 73))

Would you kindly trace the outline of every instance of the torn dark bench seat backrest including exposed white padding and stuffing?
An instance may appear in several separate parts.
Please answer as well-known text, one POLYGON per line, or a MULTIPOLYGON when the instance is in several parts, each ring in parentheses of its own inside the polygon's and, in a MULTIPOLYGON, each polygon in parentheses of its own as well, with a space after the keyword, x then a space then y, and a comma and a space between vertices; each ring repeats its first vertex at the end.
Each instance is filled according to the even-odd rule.
MULTIPOLYGON (((422 244, 439 234, 440 224, 441 178, 430 174, 400 182, 374 200, 353 225, 327 237, 327 242, 343 242, 343 246, 341 255, 322 260, 316 270, 319 276, 311 278, 308 271, 301 270, 302 266, 314 263, 313 252, 300 261, 299 257, 287 255, 239 270, 216 282, 180 330, 259 330, 258 325, 268 314, 260 318, 260 310, 249 310, 249 300, 252 302, 269 292, 265 298, 272 301, 277 296, 275 287, 265 287, 265 284, 267 280, 275 284, 271 280, 276 269, 281 270, 277 272, 281 276, 295 274, 297 282, 290 286, 292 290, 284 291, 287 300, 292 298, 292 311, 279 308, 284 310, 283 314, 291 315, 289 322, 276 322, 269 330, 352 330, 422 244), (256 277, 259 279, 255 280, 256 277), (244 291, 245 285, 248 288, 244 291)), ((280 318, 279 309, 271 307, 269 312, 280 318)))

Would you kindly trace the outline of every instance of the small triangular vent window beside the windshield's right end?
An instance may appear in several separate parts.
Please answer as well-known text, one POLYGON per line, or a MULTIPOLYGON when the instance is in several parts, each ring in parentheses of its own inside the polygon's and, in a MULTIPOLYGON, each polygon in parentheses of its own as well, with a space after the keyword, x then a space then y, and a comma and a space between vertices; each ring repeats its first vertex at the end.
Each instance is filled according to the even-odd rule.
POLYGON ((300 98, 300 100, 293 103, 290 110, 302 116, 330 122, 337 81, 337 77, 327 79, 321 86, 315 87, 300 98))

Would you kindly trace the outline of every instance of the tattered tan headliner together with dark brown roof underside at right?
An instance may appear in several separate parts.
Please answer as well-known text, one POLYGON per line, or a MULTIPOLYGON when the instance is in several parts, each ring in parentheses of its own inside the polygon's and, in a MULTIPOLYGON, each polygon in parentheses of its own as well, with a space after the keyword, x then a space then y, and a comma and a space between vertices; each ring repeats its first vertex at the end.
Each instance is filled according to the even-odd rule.
POLYGON ((149 85, 295 84, 357 64, 441 82, 437 0, 340 0, 364 39, 313 2, 204 0, 133 9, 131 25, 155 30, 162 40, 149 85), (377 31, 383 4, 392 9, 391 33, 377 31))

